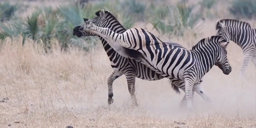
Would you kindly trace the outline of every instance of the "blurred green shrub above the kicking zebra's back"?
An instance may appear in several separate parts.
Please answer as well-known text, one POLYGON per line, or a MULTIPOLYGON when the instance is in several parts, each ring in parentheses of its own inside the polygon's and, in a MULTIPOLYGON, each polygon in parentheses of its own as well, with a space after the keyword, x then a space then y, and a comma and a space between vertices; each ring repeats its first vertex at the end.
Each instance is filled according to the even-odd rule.
POLYGON ((196 36, 200 15, 194 9, 195 6, 187 7, 184 3, 178 3, 176 7, 166 6, 158 9, 150 22, 161 34, 182 37, 186 30, 192 30, 196 36))

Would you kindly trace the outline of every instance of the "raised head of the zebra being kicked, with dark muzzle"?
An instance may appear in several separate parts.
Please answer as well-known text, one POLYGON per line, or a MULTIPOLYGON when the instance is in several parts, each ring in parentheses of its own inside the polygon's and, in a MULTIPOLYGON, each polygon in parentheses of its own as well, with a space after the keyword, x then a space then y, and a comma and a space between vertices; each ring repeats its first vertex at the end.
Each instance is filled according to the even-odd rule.
MULTIPOLYGON (((93 19, 86 19, 83 18, 84 23, 80 24, 78 26, 75 26, 73 28, 73 35, 77 36, 77 37, 84 37, 84 36, 97 36, 96 34, 87 32, 87 31, 81 31, 79 30, 79 28, 81 26, 83 26, 84 24, 88 24, 88 23, 93 23, 95 26, 99 26, 99 27, 106 27, 108 24, 108 15, 110 14, 109 11, 105 11, 104 9, 102 9, 101 11, 97 11, 95 12, 95 15, 97 15, 96 17, 94 17, 93 19)), ((110 14, 111 16, 111 14, 110 14)))

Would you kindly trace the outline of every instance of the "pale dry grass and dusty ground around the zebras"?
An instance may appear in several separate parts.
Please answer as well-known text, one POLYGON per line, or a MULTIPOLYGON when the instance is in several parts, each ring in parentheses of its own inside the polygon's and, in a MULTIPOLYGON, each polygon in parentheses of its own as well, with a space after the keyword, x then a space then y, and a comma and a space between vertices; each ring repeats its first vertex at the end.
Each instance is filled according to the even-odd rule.
MULTIPOLYGON (((198 38, 161 38, 190 48, 214 35, 215 23, 206 20, 198 38)), ((152 26, 144 27, 159 35, 152 26)), ((228 46, 231 74, 214 67, 204 77, 212 103, 196 94, 195 112, 187 112, 179 109, 184 93, 175 94, 168 79, 136 79, 139 107, 133 108, 122 76, 113 84, 109 106, 106 81, 113 69, 102 45, 90 54, 76 49, 44 54, 34 50, 33 41, 24 47, 21 42, 8 38, 0 50, 2 128, 256 128, 256 68, 251 62, 244 81, 238 79, 243 54, 234 43, 228 46)))

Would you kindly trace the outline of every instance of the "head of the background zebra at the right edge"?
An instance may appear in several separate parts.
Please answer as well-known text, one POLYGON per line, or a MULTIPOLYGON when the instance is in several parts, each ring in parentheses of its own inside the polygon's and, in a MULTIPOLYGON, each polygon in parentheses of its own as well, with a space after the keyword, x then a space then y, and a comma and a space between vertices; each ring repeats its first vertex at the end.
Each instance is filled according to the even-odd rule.
POLYGON ((218 27, 216 27, 216 29, 218 29, 216 36, 222 36, 229 43, 230 33, 227 30, 227 26, 219 21, 218 27))

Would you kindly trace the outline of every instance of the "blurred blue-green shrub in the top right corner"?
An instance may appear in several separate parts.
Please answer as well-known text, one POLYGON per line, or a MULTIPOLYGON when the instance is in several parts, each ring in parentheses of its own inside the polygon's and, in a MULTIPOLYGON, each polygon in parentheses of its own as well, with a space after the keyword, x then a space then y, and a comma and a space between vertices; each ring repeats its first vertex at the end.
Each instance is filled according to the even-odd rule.
POLYGON ((255 0, 233 0, 231 7, 228 8, 230 13, 237 19, 256 18, 256 1, 255 0))

